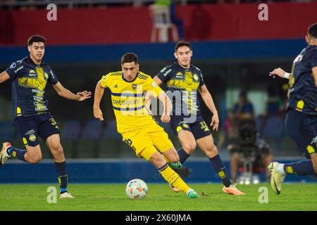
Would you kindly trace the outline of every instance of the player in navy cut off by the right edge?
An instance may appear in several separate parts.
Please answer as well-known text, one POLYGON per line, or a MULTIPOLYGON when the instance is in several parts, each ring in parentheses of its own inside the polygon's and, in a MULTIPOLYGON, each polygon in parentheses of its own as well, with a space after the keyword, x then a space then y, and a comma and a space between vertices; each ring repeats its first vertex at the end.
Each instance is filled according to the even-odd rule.
POLYGON ((281 68, 270 76, 290 79, 285 127, 307 160, 282 164, 271 162, 271 187, 280 194, 287 174, 317 174, 317 23, 309 26, 306 34, 308 46, 299 53, 292 65, 292 72, 281 68))

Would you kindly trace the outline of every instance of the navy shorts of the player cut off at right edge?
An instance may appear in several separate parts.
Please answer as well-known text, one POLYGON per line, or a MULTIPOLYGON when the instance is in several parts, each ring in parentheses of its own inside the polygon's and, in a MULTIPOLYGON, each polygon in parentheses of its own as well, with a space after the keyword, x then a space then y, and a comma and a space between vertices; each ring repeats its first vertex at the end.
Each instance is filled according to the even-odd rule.
POLYGON ((307 159, 311 158, 311 153, 317 153, 316 116, 291 109, 286 114, 285 127, 287 134, 297 143, 307 159))

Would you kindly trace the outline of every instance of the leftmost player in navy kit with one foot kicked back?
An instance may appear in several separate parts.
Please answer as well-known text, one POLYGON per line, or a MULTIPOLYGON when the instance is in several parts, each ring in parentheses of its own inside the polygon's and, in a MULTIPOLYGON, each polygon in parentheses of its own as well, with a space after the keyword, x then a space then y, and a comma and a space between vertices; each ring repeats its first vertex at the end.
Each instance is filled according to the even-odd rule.
POLYGON ((67 192, 68 175, 66 160, 61 146, 59 129, 49 111, 49 103, 44 98, 47 82, 53 85, 57 94, 73 101, 84 101, 91 93, 82 91, 77 94, 65 89, 53 70, 42 61, 45 51, 45 38, 33 35, 27 41, 30 56, 11 64, 10 68, 0 74, 0 83, 11 79, 12 103, 15 127, 26 150, 3 143, 0 166, 11 156, 25 162, 36 164, 42 160, 42 151, 37 136, 41 137, 51 150, 55 160, 58 183, 61 188, 60 198, 73 198, 67 192))

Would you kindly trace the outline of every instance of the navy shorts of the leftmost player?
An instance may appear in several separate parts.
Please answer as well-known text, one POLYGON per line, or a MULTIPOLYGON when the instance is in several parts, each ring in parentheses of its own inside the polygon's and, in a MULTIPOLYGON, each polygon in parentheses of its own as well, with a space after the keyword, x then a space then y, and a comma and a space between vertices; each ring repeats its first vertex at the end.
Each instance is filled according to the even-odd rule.
POLYGON ((60 133, 54 117, 50 114, 17 117, 14 122, 25 146, 37 146, 39 144, 37 136, 46 141, 52 134, 60 133))

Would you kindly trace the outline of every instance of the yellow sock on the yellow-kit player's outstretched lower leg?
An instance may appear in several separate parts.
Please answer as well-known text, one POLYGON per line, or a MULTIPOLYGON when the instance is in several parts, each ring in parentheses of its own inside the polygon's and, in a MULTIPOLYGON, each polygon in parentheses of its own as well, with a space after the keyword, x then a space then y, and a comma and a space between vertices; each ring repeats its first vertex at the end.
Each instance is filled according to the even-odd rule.
POLYGON ((187 193, 190 189, 189 186, 187 186, 187 184, 180 178, 180 175, 171 169, 168 164, 159 169, 159 172, 169 184, 175 186, 178 190, 187 193))

